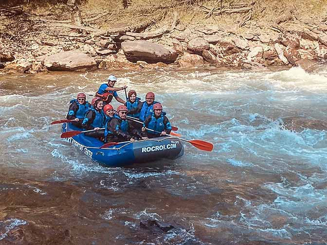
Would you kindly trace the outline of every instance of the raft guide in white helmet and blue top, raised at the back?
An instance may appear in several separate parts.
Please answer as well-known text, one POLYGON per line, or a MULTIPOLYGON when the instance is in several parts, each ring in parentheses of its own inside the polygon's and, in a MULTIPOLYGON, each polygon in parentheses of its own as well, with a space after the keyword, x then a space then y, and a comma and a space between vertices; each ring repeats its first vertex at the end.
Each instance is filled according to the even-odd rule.
POLYGON ((116 101, 125 104, 125 101, 118 96, 117 91, 124 90, 127 86, 114 88, 115 83, 117 82, 117 78, 114 75, 110 75, 107 80, 108 83, 102 84, 99 90, 95 93, 95 96, 101 98, 105 104, 109 104, 112 97, 115 97, 116 101))

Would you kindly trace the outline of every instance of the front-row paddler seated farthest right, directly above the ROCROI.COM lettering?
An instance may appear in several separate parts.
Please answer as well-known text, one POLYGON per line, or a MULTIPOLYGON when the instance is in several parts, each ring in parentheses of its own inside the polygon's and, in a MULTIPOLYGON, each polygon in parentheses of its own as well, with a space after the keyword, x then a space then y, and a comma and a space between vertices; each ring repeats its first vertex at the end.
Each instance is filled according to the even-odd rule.
POLYGON ((166 113, 163 112, 163 106, 160 103, 156 103, 153 105, 153 110, 154 112, 149 115, 143 123, 143 134, 146 133, 148 138, 155 138, 170 134, 171 124, 169 123, 168 118, 165 116, 166 113), (145 128, 152 129, 157 132, 146 130, 145 128))

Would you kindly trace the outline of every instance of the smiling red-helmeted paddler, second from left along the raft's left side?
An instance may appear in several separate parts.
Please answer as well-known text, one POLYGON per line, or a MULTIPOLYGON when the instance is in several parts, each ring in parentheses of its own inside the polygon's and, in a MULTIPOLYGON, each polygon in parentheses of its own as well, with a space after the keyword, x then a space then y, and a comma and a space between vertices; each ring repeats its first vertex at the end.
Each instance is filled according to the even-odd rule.
POLYGON ((105 124, 106 116, 103 112, 103 101, 99 97, 94 97, 91 102, 93 108, 91 108, 85 115, 82 123, 82 127, 86 130, 94 129, 95 131, 85 133, 86 136, 94 138, 101 138, 104 136, 104 130, 100 130, 105 124))

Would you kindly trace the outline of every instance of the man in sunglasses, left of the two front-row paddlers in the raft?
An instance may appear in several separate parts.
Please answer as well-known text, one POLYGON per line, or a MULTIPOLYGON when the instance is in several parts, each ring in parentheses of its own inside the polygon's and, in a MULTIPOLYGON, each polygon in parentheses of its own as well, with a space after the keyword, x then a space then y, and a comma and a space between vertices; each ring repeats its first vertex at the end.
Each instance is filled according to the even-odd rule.
POLYGON ((106 123, 106 142, 135 141, 139 138, 142 140, 148 139, 147 137, 142 137, 137 130, 133 130, 129 127, 126 115, 127 107, 125 105, 119 105, 117 114, 106 123))

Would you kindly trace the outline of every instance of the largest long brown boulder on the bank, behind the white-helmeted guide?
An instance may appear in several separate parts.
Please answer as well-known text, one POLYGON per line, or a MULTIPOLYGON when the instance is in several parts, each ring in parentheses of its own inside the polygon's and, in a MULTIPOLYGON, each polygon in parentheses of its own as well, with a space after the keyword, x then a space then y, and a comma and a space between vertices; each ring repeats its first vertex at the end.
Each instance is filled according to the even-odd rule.
POLYGON ((148 41, 123 42, 122 49, 127 60, 131 62, 142 60, 147 63, 163 62, 169 64, 178 57, 178 53, 173 48, 148 41))

